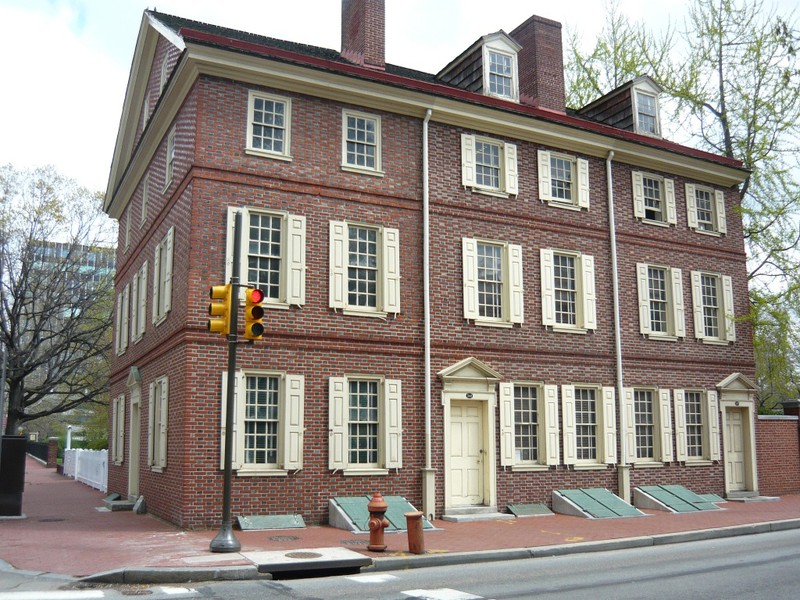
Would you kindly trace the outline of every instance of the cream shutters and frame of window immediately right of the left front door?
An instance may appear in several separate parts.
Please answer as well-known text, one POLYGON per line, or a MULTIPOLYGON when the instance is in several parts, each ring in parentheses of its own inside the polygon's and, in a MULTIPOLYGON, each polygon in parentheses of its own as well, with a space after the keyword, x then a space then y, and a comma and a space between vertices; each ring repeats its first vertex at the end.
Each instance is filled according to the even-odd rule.
POLYGON ((515 381, 500 384, 500 465, 512 471, 546 470, 558 465, 558 386, 515 381), (522 460, 516 448, 515 390, 531 387, 537 390, 537 458, 522 460))

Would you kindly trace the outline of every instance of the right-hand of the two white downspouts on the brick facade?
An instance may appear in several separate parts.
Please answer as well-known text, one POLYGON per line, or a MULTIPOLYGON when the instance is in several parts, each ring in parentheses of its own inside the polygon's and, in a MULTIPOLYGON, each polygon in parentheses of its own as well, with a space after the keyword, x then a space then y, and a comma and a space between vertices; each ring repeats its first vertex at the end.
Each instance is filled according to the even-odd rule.
POLYGON ((614 177, 611 172, 611 161, 614 151, 608 151, 606 158, 606 184, 608 186, 608 231, 611 237, 611 284, 614 295, 614 357, 617 369, 617 410, 619 412, 620 456, 617 459, 617 485, 619 496, 630 501, 630 470, 625 462, 625 410, 622 405, 624 396, 624 380, 622 372, 622 325, 619 309, 619 266, 617 263, 617 227, 614 218, 614 177))

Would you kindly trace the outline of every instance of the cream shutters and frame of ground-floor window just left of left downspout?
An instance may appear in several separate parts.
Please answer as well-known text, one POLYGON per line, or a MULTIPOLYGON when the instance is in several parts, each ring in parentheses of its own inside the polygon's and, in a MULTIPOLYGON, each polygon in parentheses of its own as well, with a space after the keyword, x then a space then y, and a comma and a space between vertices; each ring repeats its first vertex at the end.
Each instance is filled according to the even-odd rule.
POLYGON ((399 379, 381 375, 347 375, 328 378, 328 469, 344 475, 388 475, 403 468, 403 393, 399 379), (349 401, 351 381, 378 383, 378 464, 363 467, 349 462, 349 401))

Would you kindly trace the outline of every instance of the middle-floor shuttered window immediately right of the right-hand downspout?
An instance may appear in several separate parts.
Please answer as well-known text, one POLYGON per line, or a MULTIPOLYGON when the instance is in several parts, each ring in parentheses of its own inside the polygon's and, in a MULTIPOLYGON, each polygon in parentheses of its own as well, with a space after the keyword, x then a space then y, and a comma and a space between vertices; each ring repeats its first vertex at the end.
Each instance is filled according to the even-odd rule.
POLYGON ((636 278, 640 333, 651 339, 685 337, 681 270, 637 263, 636 278))

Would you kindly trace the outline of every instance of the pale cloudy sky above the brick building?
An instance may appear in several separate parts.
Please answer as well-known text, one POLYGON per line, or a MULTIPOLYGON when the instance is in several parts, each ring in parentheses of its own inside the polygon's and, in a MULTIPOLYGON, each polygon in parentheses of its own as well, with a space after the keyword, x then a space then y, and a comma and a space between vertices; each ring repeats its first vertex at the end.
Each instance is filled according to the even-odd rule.
MULTIPOLYGON (((773 0, 793 8, 797 0, 773 0)), ((688 0, 619 0, 632 21, 683 22, 688 0)), ((386 60, 436 73, 479 37, 532 14, 589 44, 603 0, 386 0, 386 60)), ((326 48, 340 0, 0 0, 0 165, 52 164, 105 191, 145 9, 326 48)))

